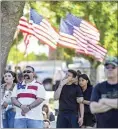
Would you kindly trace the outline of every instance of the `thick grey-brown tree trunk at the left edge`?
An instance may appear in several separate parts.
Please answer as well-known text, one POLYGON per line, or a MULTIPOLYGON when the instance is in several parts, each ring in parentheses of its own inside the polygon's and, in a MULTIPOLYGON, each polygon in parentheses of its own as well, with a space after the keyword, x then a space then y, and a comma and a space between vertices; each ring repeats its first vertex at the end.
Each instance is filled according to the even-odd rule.
POLYGON ((6 66, 19 19, 23 15, 24 5, 25 1, 1 2, 1 76, 6 66))

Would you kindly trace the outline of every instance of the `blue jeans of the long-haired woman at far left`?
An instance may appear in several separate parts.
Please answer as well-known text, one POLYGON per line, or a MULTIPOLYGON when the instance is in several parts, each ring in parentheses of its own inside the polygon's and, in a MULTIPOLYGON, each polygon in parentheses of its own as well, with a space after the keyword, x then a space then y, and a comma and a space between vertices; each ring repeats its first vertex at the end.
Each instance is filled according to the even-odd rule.
POLYGON ((3 128, 14 128, 15 112, 9 109, 5 112, 5 119, 3 119, 3 128))

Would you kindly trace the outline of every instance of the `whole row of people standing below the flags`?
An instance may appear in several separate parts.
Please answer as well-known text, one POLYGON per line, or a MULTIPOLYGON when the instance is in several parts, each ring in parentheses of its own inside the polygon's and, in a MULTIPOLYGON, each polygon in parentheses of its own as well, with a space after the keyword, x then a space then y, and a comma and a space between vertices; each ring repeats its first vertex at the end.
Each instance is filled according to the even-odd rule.
MULTIPOLYGON (((118 59, 105 63, 107 80, 92 86, 81 71, 69 69, 54 84, 54 100, 59 101, 56 128, 118 128, 118 59)), ((55 121, 45 104, 45 88, 35 78, 35 69, 26 66, 22 74, 5 71, 2 85, 3 128, 50 128, 55 121)))

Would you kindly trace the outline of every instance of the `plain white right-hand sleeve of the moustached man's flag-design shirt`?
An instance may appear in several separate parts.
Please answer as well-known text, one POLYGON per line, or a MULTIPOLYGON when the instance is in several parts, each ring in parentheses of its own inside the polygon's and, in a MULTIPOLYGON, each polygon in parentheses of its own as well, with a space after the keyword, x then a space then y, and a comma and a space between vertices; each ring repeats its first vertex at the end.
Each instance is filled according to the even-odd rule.
POLYGON ((45 96, 46 96, 45 88, 44 88, 43 85, 40 84, 40 85, 38 86, 38 90, 37 90, 37 95, 36 95, 36 97, 45 99, 45 96))

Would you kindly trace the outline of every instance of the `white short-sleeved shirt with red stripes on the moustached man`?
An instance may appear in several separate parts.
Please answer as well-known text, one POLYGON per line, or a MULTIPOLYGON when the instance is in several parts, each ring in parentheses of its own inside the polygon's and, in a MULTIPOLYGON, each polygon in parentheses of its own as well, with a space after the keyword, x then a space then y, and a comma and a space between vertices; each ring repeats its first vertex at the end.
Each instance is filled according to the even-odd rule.
MULTIPOLYGON (((25 82, 22 83, 25 85, 25 82)), ((30 105, 36 100, 36 97, 45 99, 45 89, 44 86, 33 80, 31 83, 26 84, 25 89, 18 88, 16 85, 13 89, 12 97, 17 97, 18 101, 23 105, 30 105)), ((31 109, 25 116, 21 115, 21 109, 16 107, 16 116, 15 118, 28 118, 33 120, 43 120, 42 114, 42 102, 39 106, 31 109)))

